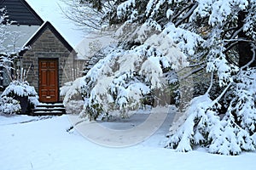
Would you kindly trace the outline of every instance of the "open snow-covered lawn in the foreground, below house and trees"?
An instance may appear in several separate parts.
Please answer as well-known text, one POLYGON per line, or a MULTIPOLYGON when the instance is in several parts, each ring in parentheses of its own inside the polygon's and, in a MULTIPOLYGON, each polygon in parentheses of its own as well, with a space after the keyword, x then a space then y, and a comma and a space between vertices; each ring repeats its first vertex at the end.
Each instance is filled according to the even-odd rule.
MULTIPOLYGON (((120 125, 117 121, 102 124, 113 127, 120 125)), ((131 122, 122 123, 134 126, 131 122)), ((67 115, 0 116, 0 169, 255 169, 255 152, 220 156, 203 149, 188 153, 164 149, 167 122, 141 144, 111 148, 94 144, 75 130, 67 133, 71 127, 67 115)))

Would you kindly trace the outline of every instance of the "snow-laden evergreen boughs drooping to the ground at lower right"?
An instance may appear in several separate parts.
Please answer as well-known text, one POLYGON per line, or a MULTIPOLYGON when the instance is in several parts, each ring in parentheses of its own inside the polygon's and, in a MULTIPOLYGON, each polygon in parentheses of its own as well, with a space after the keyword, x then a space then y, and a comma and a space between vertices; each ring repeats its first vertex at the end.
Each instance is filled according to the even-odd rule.
MULTIPOLYGON (((256 69, 241 70, 234 76, 230 88, 230 103, 224 114, 220 116, 218 103, 221 97, 210 99, 208 94, 196 97, 191 101, 187 117, 177 132, 168 134, 168 147, 178 151, 189 151, 201 144, 209 152, 237 155, 242 150, 256 149, 256 69)), ((171 127, 171 129, 175 129, 171 127)))

